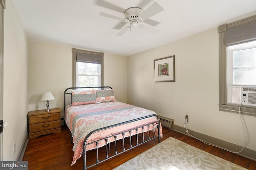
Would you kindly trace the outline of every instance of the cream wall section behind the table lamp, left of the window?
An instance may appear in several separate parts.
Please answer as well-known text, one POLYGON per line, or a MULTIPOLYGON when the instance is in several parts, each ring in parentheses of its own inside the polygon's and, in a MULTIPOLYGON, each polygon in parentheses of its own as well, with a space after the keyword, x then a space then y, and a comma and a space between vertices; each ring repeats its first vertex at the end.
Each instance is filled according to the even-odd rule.
POLYGON ((45 92, 52 92, 49 108, 63 111, 63 92, 72 86, 71 47, 29 41, 29 111, 46 109, 40 101, 45 92))

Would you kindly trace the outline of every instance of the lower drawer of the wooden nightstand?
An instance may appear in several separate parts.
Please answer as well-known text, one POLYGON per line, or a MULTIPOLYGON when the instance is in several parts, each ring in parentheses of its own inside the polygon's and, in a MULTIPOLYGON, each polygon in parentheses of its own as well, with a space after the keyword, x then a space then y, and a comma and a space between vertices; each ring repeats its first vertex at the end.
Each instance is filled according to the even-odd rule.
POLYGON ((60 120, 33 124, 33 125, 30 125, 30 133, 45 131, 49 129, 56 129, 59 127, 60 127, 60 120))

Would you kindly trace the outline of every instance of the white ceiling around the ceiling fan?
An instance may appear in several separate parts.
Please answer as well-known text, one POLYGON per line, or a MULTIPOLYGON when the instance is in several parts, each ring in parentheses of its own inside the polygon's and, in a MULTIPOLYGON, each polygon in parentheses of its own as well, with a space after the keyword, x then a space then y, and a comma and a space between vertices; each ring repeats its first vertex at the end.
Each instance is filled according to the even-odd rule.
POLYGON ((13 1, 28 39, 123 56, 256 14, 256 0, 13 1), (146 5, 138 6, 142 2, 146 5), (120 30, 114 27, 120 21, 98 15, 104 12, 124 18, 124 13, 118 10, 134 6, 146 10, 154 2, 164 8, 164 11, 150 18, 159 22, 154 26, 161 30, 156 35, 143 28, 134 28, 123 36, 116 36, 120 30), (110 4, 111 9, 106 4, 110 4))

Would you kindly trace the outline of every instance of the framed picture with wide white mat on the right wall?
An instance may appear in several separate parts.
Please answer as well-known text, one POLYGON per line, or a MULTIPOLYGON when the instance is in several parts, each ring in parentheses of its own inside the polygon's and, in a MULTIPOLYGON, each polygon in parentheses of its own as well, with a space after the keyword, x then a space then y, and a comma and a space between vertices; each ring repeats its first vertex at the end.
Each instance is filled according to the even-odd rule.
POLYGON ((154 82, 175 82, 175 55, 154 60, 154 82))

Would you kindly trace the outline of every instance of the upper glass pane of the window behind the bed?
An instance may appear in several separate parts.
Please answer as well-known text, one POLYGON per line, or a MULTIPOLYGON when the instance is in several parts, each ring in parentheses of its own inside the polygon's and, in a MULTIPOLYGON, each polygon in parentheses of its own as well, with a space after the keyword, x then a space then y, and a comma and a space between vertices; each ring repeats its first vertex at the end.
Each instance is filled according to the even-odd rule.
POLYGON ((98 64, 93 63, 78 63, 78 74, 84 75, 98 75, 98 64))

